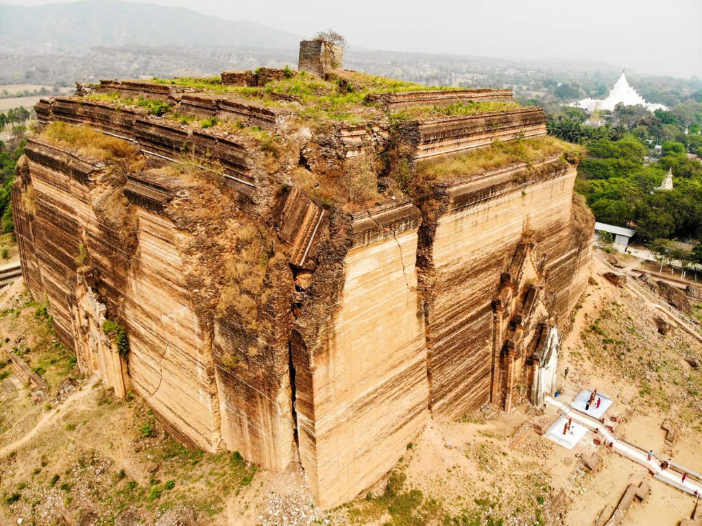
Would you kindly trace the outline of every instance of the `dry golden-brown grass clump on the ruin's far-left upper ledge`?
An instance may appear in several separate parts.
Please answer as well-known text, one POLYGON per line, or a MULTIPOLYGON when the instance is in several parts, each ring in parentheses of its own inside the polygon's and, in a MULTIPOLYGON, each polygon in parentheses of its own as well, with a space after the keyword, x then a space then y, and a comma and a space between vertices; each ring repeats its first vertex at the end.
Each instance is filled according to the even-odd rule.
POLYGON ((65 122, 52 122, 41 133, 48 143, 73 150, 78 154, 107 161, 110 159, 126 159, 135 157, 139 150, 126 140, 110 137, 83 126, 73 126, 65 122))

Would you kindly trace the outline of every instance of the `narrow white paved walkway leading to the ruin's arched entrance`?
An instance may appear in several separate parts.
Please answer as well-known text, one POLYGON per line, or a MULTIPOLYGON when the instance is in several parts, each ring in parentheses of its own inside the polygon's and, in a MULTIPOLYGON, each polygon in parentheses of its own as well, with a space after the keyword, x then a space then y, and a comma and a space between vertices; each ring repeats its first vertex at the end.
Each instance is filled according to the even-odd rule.
POLYGON ((677 487, 677 489, 691 495, 702 495, 702 482, 700 482, 700 480, 702 480, 702 475, 682 468, 682 466, 677 466, 672 462, 670 468, 661 470, 660 460, 654 457, 651 459, 651 461, 648 461, 648 452, 646 450, 633 444, 629 444, 621 438, 617 438, 616 435, 607 429, 607 427, 604 426, 604 423, 601 421, 598 421, 587 414, 583 414, 569 404, 559 402, 559 400, 556 400, 554 397, 547 396, 546 402, 555 406, 558 409, 558 412, 563 416, 571 418, 574 422, 588 428, 588 430, 592 431, 593 433, 597 433, 598 436, 602 437, 602 442, 604 444, 607 444, 608 447, 611 444, 610 449, 612 449, 614 452, 617 452, 618 454, 621 454, 621 456, 625 456, 627 459, 630 459, 631 461, 634 461, 647 468, 649 473, 651 473, 654 478, 657 478, 658 480, 661 480, 662 482, 665 482, 673 487, 677 487), (682 482, 682 473, 687 473, 687 480, 685 480, 685 482, 682 482))

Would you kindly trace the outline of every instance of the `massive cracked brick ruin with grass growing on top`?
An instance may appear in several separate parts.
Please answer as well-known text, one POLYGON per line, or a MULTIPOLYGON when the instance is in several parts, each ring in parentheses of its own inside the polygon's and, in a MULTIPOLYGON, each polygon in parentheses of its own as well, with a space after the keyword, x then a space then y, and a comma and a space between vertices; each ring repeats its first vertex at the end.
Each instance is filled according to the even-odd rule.
POLYGON ((510 91, 318 73, 41 100, 12 197, 81 370, 187 445, 299 461, 329 508, 430 416, 540 403, 592 223, 510 91))

